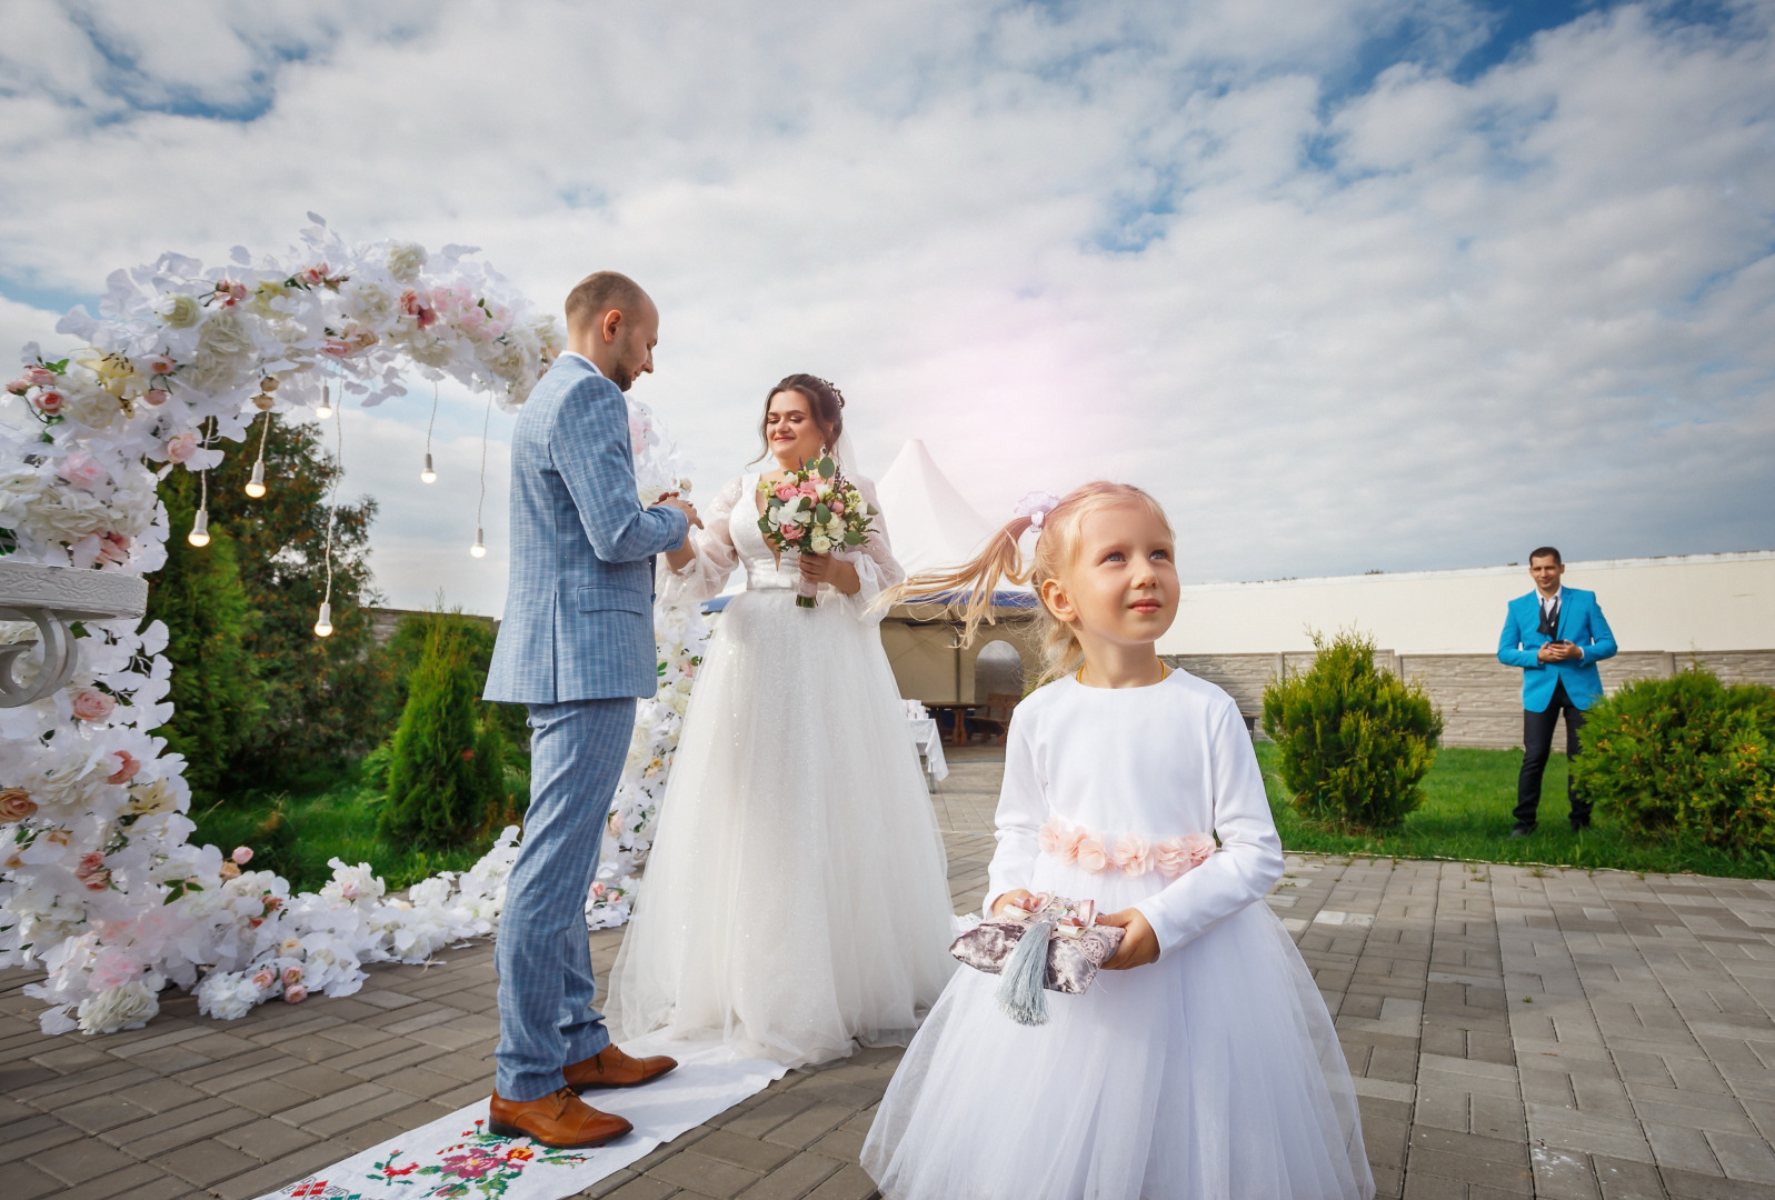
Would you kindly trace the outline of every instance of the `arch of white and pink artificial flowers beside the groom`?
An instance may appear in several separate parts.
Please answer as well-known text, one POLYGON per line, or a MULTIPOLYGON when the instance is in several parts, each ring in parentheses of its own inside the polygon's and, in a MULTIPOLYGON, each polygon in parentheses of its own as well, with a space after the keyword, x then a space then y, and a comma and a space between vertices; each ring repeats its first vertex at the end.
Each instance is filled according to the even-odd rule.
MULTIPOLYGON (((515 412, 561 351, 554 318, 472 261, 474 249, 346 245, 309 218, 282 257, 236 247, 227 268, 165 254, 114 272, 96 316, 82 307, 57 325, 76 350, 25 348, 7 391, 28 415, 0 422, 0 552, 151 573, 169 536, 201 545, 208 522, 201 509, 193 529, 169 529, 158 479, 215 467, 254 421, 348 398, 380 405, 406 391, 406 369, 515 412)), ((637 403, 630 430, 643 499, 676 486, 673 447, 637 403)), ((604 882, 588 898, 598 925, 627 918, 705 637, 694 612, 662 612, 659 628, 660 694, 643 705, 604 882)), ((183 758, 151 733, 172 714, 167 628, 121 620, 83 632, 66 687, 0 708, 0 966, 48 967, 28 989, 50 1005, 46 1031, 135 1028, 169 983, 195 987, 217 1017, 311 991, 346 996, 366 962, 424 960, 493 930, 515 827, 474 870, 403 900, 383 896, 367 864, 334 859, 320 893, 289 895, 272 872, 241 870, 247 854, 193 845, 183 758)))

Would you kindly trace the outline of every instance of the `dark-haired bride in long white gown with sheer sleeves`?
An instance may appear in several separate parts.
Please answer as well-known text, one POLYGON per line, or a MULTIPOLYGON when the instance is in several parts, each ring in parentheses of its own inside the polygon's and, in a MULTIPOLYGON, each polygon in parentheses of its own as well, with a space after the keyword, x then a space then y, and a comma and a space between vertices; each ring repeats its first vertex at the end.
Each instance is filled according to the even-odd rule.
POLYGON ((758 531, 769 485, 827 447, 843 470, 843 407, 811 375, 770 389, 776 470, 730 481, 660 568, 666 602, 706 600, 740 564, 746 591, 699 667, 616 957, 621 1038, 719 1035, 785 1067, 903 1046, 955 967, 943 840, 870 607, 905 575, 882 518, 799 564, 758 531), (795 607, 797 575, 818 607, 795 607))

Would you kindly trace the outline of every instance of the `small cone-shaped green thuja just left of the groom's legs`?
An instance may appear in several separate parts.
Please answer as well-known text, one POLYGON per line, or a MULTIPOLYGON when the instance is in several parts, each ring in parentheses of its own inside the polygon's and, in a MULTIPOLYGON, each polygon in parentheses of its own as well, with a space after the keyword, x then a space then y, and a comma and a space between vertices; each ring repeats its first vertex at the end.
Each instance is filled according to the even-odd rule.
POLYGON ((477 696, 486 678, 460 616, 435 614, 394 731, 378 829, 428 849, 472 843, 504 818, 504 737, 477 696))

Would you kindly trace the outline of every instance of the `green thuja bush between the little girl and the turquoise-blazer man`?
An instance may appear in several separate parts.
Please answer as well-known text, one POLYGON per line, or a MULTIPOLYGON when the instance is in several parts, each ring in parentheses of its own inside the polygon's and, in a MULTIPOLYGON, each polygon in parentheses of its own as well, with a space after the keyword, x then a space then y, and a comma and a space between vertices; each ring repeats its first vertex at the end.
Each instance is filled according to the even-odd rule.
POLYGON ((1424 802, 1441 714, 1424 694, 1374 666, 1374 641, 1314 634, 1306 671, 1264 689, 1264 733, 1282 749, 1282 781, 1303 815, 1342 829, 1392 829, 1424 802))

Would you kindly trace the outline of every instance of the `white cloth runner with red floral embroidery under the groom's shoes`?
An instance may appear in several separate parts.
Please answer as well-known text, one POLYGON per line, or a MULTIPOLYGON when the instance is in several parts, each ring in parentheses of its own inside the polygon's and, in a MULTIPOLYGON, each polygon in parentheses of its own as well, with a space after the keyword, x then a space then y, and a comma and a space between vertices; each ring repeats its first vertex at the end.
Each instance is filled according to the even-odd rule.
POLYGON ((763 1092, 783 1074, 772 1062, 733 1058, 719 1042, 635 1040, 623 1049, 678 1060, 674 1072, 646 1086, 586 1093, 593 1108, 635 1124, 627 1138, 593 1150, 497 1138, 486 1133, 486 1101, 476 1101, 259 1200, 561 1200, 763 1092))

